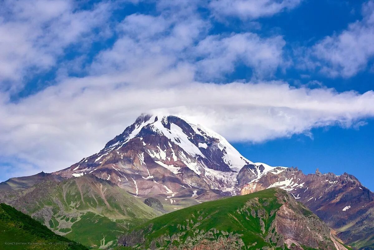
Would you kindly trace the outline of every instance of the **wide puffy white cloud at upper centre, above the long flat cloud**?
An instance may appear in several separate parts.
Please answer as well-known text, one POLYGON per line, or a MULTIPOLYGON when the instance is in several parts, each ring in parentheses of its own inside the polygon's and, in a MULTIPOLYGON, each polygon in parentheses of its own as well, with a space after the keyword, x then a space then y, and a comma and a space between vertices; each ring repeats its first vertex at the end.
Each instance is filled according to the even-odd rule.
POLYGON ((127 16, 117 26, 119 38, 112 48, 96 56, 91 72, 141 67, 157 71, 189 64, 196 68, 199 79, 212 80, 232 73, 238 64, 251 68, 253 76, 259 78, 269 77, 288 65, 283 59, 282 36, 206 36, 209 22, 194 14, 186 18, 181 21, 179 16, 164 14, 127 16))

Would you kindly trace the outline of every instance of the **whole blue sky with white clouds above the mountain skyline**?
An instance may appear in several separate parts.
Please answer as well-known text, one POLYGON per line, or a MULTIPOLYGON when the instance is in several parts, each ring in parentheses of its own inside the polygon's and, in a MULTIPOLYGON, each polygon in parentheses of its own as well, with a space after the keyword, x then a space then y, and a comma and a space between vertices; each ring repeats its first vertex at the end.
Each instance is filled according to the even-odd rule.
POLYGON ((251 161, 374 189, 374 1, 1 4, 0 180, 70 166, 162 111, 251 161))

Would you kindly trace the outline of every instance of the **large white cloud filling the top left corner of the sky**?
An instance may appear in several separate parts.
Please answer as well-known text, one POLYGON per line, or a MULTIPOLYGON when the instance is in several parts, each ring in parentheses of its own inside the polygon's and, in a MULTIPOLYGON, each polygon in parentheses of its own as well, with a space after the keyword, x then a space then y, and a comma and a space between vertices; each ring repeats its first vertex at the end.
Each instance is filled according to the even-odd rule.
POLYGON ((18 90, 23 77, 55 65, 68 45, 91 41, 92 28, 103 24, 108 8, 105 2, 79 10, 73 1, 2 1, 0 87, 18 90))

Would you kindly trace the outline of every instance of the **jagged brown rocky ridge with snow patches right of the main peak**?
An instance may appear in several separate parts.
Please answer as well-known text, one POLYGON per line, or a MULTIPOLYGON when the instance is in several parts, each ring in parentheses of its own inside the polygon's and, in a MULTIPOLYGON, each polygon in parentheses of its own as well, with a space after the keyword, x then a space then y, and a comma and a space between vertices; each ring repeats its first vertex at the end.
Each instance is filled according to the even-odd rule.
MULTIPOLYGON (((243 168, 242 170, 244 170, 243 168)), ((240 174, 240 172, 239 172, 240 174)), ((354 176, 344 173, 303 174, 297 168, 269 171, 249 179, 241 193, 253 193, 270 187, 289 192, 318 215, 345 243, 358 249, 374 249, 374 193, 354 176)))

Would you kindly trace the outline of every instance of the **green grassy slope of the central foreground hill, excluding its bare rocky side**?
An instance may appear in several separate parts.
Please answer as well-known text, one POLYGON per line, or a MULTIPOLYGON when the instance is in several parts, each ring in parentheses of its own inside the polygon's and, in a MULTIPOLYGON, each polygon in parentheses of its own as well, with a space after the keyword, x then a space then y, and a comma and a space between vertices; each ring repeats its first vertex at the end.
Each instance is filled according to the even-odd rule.
POLYGON ((145 242, 135 246, 139 249, 151 247, 155 244, 155 239, 155 247, 165 249, 188 242, 194 244, 206 237, 207 232, 212 240, 237 234, 245 246, 256 243, 253 249, 274 247, 265 237, 272 233, 269 230, 275 219, 275 211, 282 205, 275 196, 276 192, 278 191, 275 189, 267 189, 249 195, 204 202, 156 217, 130 230, 128 235, 144 231, 145 242), (257 216, 251 216, 251 213, 257 216), (147 231, 147 228, 150 230, 147 231))

